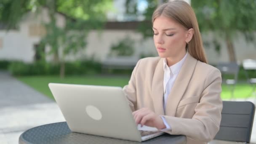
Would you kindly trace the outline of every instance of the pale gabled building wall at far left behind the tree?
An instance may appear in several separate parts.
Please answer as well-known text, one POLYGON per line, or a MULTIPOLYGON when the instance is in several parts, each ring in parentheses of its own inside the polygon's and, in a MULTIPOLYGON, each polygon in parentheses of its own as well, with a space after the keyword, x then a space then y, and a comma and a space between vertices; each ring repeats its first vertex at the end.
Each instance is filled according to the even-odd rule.
MULTIPOLYGON (((64 16, 58 14, 56 18, 57 25, 64 27, 64 16)), ((35 55, 34 45, 40 42, 45 33, 42 23, 48 21, 48 11, 43 8, 41 13, 28 13, 24 16, 19 29, 0 30, 0 60, 32 62, 35 55)))

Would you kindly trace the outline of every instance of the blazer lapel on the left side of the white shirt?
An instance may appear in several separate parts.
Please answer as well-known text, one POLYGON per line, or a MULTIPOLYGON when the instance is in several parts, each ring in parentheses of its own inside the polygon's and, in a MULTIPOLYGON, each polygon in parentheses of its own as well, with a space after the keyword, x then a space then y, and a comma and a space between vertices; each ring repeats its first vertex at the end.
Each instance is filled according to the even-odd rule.
POLYGON ((152 100, 157 115, 164 115, 163 110, 163 59, 160 59, 155 68, 152 79, 152 100))

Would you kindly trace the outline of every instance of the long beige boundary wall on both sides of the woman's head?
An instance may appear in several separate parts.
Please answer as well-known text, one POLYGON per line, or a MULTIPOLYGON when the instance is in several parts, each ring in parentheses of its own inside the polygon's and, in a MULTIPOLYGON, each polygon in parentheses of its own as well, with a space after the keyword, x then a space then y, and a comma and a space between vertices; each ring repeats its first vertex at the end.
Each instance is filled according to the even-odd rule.
MULTIPOLYGON (((100 61, 104 61, 107 58, 107 53, 110 50, 112 43, 117 43, 118 40, 122 40, 126 36, 130 36, 135 40, 136 56, 140 53, 154 53, 157 56, 153 39, 147 38, 143 40, 141 34, 133 32, 131 30, 104 30, 101 33, 96 31, 90 32, 88 35, 88 45, 83 51, 84 55, 92 56, 95 55, 100 61)), ((211 41, 212 35, 203 35, 204 41, 211 41)), ((205 48, 210 64, 217 64, 221 61, 229 61, 227 46, 223 38, 218 37, 219 43, 221 43, 221 51, 218 54, 213 45, 205 48)), ((243 59, 256 59, 256 46, 253 43, 247 43, 243 35, 239 35, 234 41, 235 52, 238 61, 243 59)))

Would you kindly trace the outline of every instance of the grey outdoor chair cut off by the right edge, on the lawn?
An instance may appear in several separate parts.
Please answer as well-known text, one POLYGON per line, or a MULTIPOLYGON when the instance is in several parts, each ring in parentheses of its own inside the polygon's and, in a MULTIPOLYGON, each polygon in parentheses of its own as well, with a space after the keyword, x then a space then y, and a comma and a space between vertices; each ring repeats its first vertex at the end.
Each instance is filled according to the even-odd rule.
POLYGON ((254 71, 254 76, 256 74, 256 60, 253 60, 253 59, 245 59, 243 60, 243 69, 245 71, 245 76, 246 76, 246 79, 248 81, 248 83, 251 84, 252 86, 252 93, 255 94, 256 96, 256 93, 255 93, 255 88, 256 88, 256 77, 253 78, 252 75, 250 77, 250 75, 248 74, 248 71, 254 71), (255 84, 255 85, 253 85, 255 84))

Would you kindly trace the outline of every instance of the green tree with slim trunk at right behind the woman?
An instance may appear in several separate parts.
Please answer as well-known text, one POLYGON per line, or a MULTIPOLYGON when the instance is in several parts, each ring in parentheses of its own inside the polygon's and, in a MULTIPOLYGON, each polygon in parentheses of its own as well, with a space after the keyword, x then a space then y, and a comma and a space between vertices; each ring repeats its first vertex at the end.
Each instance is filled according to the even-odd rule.
MULTIPOLYGON (((236 61, 233 40, 237 32, 243 33, 246 40, 254 40, 256 0, 192 0, 192 7, 200 30, 214 32, 226 41, 229 61, 236 61)), ((213 42, 217 42, 216 37, 213 42)))

